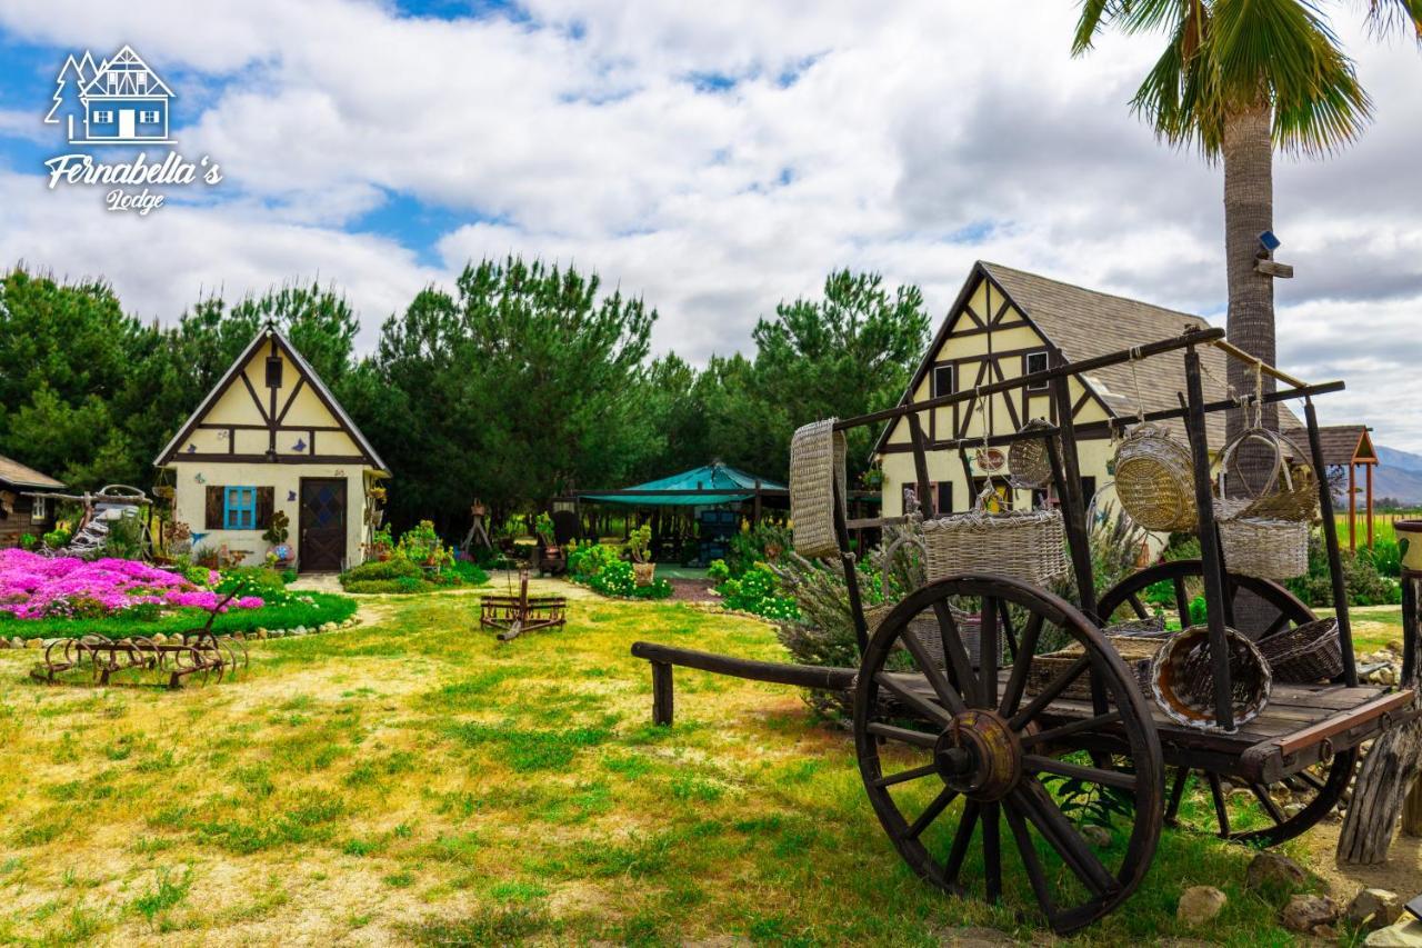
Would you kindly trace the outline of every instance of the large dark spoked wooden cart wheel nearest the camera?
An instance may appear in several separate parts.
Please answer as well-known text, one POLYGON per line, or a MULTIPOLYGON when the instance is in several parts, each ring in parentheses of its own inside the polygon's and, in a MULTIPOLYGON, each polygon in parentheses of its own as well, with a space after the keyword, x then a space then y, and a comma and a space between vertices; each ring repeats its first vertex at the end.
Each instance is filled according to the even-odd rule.
POLYGON ((1030 891, 1058 932, 1125 901, 1160 837, 1160 743, 1125 663, 1075 606, 1012 579, 950 576, 889 613, 859 669, 855 746, 875 813, 919 875, 956 895, 967 895, 967 877, 978 875, 981 894, 997 901, 1010 868, 1008 891, 1030 891), (966 604, 981 615, 981 669, 971 666, 950 608, 966 604), (934 633, 943 659, 929 641, 934 633), (1032 656, 1051 639, 1074 641, 1084 653, 1028 693, 1032 656), (1000 669, 1004 645, 1012 659, 1000 669), (1054 712, 1078 680, 1099 685, 1101 703, 1078 702, 1075 717, 1054 712), (1054 757, 1052 746, 1066 737, 1121 754, 1132 770, 1092 766, 1085 753, 1054 757), (1068 816, 1084 810, 1048 786, 1069 786, 1075 803, 1115 801, 1109 844, 1099 833, 1088 838, 1068 816), (1007 858, 1001 820, 1015 847, 1007 858), (975 833, 980 864, 968 861, 975 833))

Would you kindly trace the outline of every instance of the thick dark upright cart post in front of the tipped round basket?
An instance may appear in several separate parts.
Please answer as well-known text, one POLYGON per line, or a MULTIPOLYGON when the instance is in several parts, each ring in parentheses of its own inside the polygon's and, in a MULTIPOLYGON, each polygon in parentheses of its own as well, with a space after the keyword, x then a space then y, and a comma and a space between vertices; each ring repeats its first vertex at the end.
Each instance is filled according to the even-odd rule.
POLYGON ((1185 427, 1190 436, 1190 465, 1194 468, 1194 505, 1200 518, 1200 567, 1204 574, 1204 613, 1210 628, 1210 665, 1214 669, 1214 716, 1224 730, 1234 730, 1234 689, 1230 682, 1230 646, 1224 632, 1224 569, 1214 525, 1214 495, 1210 478, 1210 447, 1204 427, 1204 390, 1200 383, 1200 353, 1185 350, 1185 427))

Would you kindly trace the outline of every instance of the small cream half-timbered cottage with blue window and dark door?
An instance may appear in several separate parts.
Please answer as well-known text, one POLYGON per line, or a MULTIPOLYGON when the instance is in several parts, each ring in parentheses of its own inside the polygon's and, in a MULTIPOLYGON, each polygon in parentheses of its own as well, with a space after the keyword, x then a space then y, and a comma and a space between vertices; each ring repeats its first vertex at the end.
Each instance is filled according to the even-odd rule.
POLYGON ((301 572, 361 562, 380 522, 385 463, 316 372, 272 325, 257 333, 154 458, 193 548, 259 564, 286 514, 301 572))

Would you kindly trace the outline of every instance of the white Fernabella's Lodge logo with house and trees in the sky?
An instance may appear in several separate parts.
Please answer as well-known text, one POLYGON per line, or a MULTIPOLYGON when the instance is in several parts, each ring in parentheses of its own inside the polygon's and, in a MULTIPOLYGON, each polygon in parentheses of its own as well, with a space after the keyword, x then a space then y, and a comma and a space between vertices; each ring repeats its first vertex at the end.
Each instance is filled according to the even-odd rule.
MULTIPOLYGON (((64 61, 54 90, 54 107, 44 121, 63 125, 71 145, 172 145, 169 102, 173 91, 149 68, 134 47, 125 46, 98 65, 88 50, 64 61)), ((50 189, 58 185, 118 185, 104 198, 109 211, 137 211, 139 216, 164 206, 166 198, 154 185, 189 185, 199 177, 206 185, 222 181, 218 162, 203 155, 189 161, 168 148, 165 154, 139 151, 131 159, 107 162, 85 151, 46 161, 50 189)))

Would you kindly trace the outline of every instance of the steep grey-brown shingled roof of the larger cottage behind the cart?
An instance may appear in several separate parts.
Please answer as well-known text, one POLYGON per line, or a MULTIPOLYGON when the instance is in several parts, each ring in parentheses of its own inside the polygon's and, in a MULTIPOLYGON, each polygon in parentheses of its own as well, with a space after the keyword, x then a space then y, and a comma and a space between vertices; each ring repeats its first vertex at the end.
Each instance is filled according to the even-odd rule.
MULTIPOLYGON (((923 381, 933 357, 943 347, 953 329, 953 322, 963 306, 973 296, 978 280, 988 279, 1008 297, 1012 305, 1034 323, 1047 340, 1061 349, 1062 354, 1072 362, 1102 356, 1122 349, 1130 349, 1143 343, 1158 342, 1179 336, 1186 329, 1207 329, 1209 322, 1202 316, 1182 313, 1179 310, 1143 303, 1140 300, 1102 293, 1099 290, 1062 283, 1061 280, 1018 270, 1001 263, 978 260, 968 273, 967 282, 953 309, 948 310, 943 326, 934 336, 929 352, 924 354, 909 389, 899 404, 907 403, 914 389, 923 381)), ((1199 349, 1200 363, 1204 367, 1202 379, 1204 399, 1217 401, 1226 397, 1227 356, 1214 346, 1199 349)), ((1177 409, 1176 393, 1185 386, 1185 352, 1177 350, 1160 356, 1152 356, 1132 372, 1130 363, 1108 366, 1082 376, 1082 381, 1101 399, 1106 410, 1116 417, 1130 417, 1138 411, 1138 400, 1143 411, 1162 411, 1177 409), (1136 379, 1139 376, 1139 399, 1136 379), (1162 380, 1166 380, 1162 384, 1162 380)), ((1278 406, 1280 427, 1301 427, 1298 418, 1285 404, 1278 406)), ((883 448, 893 430, 894 423, 889 423, 875 451, 883 448)), ((1210 443, 1219 446, 1224 441, 1224 414, 1214 413, 1206 417, 1210 443)))

